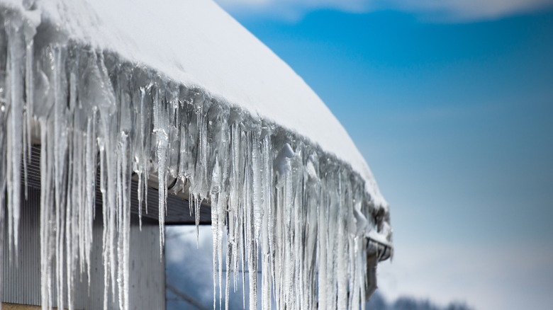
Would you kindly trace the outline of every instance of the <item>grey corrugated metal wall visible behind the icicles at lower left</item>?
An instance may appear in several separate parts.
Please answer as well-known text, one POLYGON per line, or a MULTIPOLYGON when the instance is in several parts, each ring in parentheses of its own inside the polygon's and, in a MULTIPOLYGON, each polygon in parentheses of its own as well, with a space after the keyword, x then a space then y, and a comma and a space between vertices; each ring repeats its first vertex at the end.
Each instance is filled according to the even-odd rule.
MULTIPOLYGON (((40 304, 40 190, 29 187, 28 200, 22 200, 18 253, 9 255, 8 243, 2 248, 2 301, 40 304)), ((94 221, 91 257, 91 286, 86 274, 77 284, 77 309, 102 309, 104 305, 104 266, 101 261, 101 209, 94 221)), ((6 236, 4 232, 4 236, 6 236)), ((160 260, 160 231, 157 222, 145 219, 142 231, 133 214, 130 230, 130 309, 165 309, 165 258, 160 260)), ((13 251, 12 251, 13 252, 13 251)), ((110 289, 111 291, 111 289, 110 289)), ((116 292, 117 295, 117 292, 116 292)), ((109 309, 117 309, 116 298, 109 309)))

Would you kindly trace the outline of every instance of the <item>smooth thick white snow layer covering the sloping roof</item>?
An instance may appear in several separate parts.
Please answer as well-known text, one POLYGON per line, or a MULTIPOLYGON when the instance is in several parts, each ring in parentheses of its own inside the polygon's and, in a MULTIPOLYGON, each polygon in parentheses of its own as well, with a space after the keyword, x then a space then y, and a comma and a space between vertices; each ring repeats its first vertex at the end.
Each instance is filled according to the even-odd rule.
POLYGON ((54 0, 35 6, 69 38, 117 52, 308 137, 350 163, 375 205, 386 205, 367 163, 323 101, 213 1, 54 0))

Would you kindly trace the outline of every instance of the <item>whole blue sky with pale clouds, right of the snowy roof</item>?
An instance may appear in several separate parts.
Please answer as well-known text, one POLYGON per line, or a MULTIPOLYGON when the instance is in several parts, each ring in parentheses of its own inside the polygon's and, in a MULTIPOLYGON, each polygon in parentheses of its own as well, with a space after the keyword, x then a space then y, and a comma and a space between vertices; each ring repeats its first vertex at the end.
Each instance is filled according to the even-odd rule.
POLYGON ((219 2, 372 168, 396 245, 384 296, 550 309, 552 1, 219 2))

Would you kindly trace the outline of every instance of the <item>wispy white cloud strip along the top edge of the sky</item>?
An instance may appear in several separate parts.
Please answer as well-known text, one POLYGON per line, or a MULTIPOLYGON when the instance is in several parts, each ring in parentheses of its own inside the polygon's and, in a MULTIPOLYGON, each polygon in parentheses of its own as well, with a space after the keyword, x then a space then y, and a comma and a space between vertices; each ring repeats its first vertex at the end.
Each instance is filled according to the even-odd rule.
POLYGON ((297 21, 311 11, 351 13, 396 10, 442 22, 482 21, 553 6, 553 0, 216 0, 230 13, 297 21))

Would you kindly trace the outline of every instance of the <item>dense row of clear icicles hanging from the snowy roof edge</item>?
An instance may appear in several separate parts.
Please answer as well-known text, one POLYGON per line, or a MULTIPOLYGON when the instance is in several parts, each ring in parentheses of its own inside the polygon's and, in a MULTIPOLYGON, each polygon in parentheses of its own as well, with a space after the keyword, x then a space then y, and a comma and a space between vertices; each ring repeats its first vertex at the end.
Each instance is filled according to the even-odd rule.
POLYGON ((247 275, 250 309, 259 306, 257 294, 264 310, 272 297, 279 309, 354 309, 364 300, 363 236, 379 225, 349 166, 199 88, 74 42, 39 46, 33 27, 4 18, 0 193, 17 249, 30 145, 40 143, 43 309, 73 309, 73 285, 90 272, 98 216, 104 309, 110 297, 128 309, 130 181, 138 179, 142 212, 151 175, 159 180, 160 243, 168 179, 177 179, 172 190, 189 194, 196 221, 201 202, 211 204, 219 307, 238 270, 261 271, 247 275), (94 212, 97 186, 101 214, 94 212))

